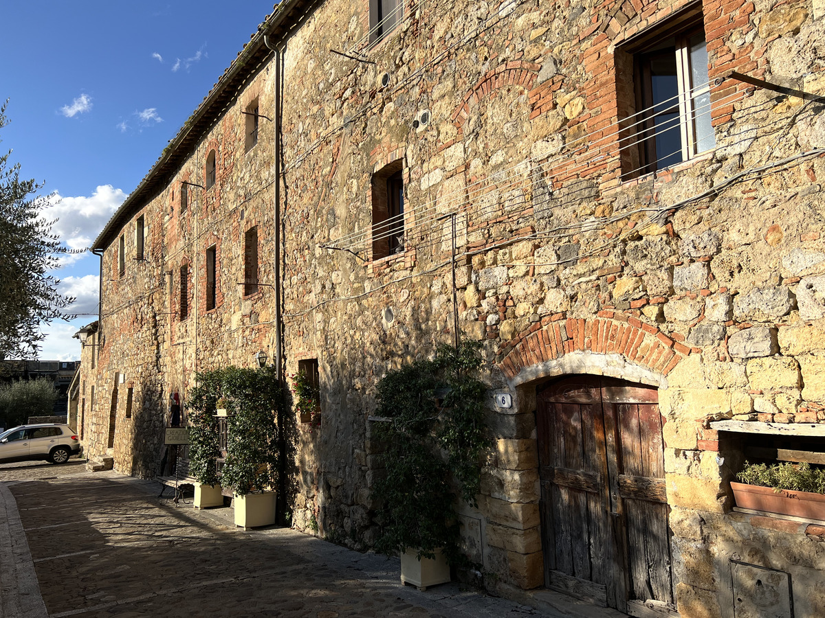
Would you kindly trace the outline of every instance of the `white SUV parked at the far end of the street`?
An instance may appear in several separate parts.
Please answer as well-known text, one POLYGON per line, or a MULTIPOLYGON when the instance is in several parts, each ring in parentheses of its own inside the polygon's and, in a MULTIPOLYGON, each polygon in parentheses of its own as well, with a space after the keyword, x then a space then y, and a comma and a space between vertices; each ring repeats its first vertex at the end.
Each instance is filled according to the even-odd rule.
POLYGON ((21 425, 0 433, 0 463, 45 459, 66 463, 80 452, 80 440, 68 425, 21 425))

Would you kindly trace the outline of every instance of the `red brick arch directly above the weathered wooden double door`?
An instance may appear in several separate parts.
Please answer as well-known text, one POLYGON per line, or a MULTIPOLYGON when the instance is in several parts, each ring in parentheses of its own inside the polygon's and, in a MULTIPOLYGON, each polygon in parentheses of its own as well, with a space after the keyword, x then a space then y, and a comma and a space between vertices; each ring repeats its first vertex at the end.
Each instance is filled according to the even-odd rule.
POLYGON ((504 358, 499 368, 507 379, 526 382, 530 372, 522 373, 524 370, 562 359, 567 354, 618 354, 626 363, 664 377, 682 358, 699 351, 634 316, 599 311, 598 316, 590 319, 545 318, 532 325, 502 346, 504 358))

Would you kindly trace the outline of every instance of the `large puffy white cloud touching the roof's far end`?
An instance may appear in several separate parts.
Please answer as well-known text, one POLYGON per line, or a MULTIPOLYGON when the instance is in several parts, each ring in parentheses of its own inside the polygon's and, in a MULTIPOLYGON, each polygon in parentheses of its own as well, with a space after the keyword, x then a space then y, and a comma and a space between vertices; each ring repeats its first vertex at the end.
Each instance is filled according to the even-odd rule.
MULTIPOLYGON (((112 185, 100 185, 90 196, 64 197, 59 193, 51 195, 49 205, 41 214, 51 221, 57 219, 52 232, 57 234, 69 249, 83 249, 92 245, 92 241, 101 232, 126 194, 112 185)), ((85 253, 61 256, 62 265, 70 265, 81 260, 85 253)))

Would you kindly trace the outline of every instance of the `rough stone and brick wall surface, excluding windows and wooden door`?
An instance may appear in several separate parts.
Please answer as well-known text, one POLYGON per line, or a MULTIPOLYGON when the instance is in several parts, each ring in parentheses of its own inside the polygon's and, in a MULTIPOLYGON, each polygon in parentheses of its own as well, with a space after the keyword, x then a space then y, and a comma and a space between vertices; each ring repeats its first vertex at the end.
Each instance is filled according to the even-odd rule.
MULTIPOLYGON (((285 353, 290 374, 299 360, 318 358, 322 387, 320 425, 300 426, 295 527, 361 548, 374 541, 375 383, 459 330, 485 342, 491 391, 513 396, 510 409, 491 397, 495 448, 479 509, 462 513, 470 557, 503 591, 544 581, 535 386, 571 373, 660 389, 682 616, 730 615, 730 559, 793 571, 794 583, 821 579, 818 531, 730 512, 724 461, 735 454, 719 451, 708 423, 768 420, 759 414, 825 420, 822 106, 714 82, 716 147, 623 180, 638 164, 620 142, 628 128, 619 119, 633 105, 627 50, 685 7, 422 4, 365 49, 367 3, 328 0, 292 35, 284 59, 285 353), (373 176, 398 161, 403 252, 377 258, 373 176), (787 549, 724 549, 746 541, 787 549)), ((701 8, 711 79, 736 69, 825 94, 819 0, 701 8)), ((259 143, 245 152, 241 114, 257 96, 261 114, 274 115, 273 74, 266 65, 243 87, 145 205, 146 259, 127 260, 120 278, 116 239, 103 255, 105 340, 95 370, 83 358, 97 388, 84 446, 93 457, 108 452, 111 391, 123 373, 111 452, 118 470, 152 474, 169 395, 180 392, 185 403, 194 372, 250 365, 259 349, 273 356, 271 288, 243 297, 238 285, 243 237, 254 226, 260 280, 274 283, 273 128, 262 119, 259 143), (205 185, 213 149, 217 182, 189 186, 181 214, 180 183, 205 185), (217 307, 206 311, 213 245, 217 307), (186 321, 177 313, 183 264, 186 321), (129 384, 134 414, 125 419, 129 384)), ((124 230, 134 255, 134 219, 124 230)), ((794 585, 794 603, 816 606, 817 591, 794 585)))

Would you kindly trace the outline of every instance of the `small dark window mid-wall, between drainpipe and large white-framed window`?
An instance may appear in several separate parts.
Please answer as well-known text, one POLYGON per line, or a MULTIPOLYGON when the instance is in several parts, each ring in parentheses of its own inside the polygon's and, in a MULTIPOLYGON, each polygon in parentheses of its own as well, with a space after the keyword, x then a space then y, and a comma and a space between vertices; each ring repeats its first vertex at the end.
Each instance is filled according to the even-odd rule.
POLYGON ((404 250, 404 179, 401 159, 372 177, 372 259, 404 250))

